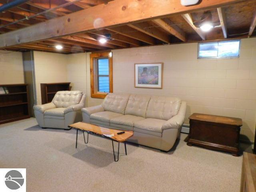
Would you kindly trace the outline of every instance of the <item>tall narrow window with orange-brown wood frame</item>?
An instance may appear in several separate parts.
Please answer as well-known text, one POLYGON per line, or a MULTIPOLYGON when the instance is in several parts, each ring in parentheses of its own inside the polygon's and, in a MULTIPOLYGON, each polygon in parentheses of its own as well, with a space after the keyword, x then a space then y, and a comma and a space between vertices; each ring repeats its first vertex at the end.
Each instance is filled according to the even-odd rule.
POLYGON ((112 52, 90 54, 91 97, 104 99, 113 92, 112 52))

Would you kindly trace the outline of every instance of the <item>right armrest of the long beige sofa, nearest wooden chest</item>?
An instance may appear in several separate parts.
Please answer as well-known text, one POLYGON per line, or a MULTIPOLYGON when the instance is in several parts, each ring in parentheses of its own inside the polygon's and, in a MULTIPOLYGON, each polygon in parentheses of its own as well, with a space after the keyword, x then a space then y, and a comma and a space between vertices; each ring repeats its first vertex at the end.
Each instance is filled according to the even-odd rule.
POLYGON ((170 118, 167 122, 165 122, 162 126, 162 130, 170 129, 170 128, 180 128, 182 126, 186 114, 186 102, 182 101, 180 105, 180 110, 177 115, 170 118))

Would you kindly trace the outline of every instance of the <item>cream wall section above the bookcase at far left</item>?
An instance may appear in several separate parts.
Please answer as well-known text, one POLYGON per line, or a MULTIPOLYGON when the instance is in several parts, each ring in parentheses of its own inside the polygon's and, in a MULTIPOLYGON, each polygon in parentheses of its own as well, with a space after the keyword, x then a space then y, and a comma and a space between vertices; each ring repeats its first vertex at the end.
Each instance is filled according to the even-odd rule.
POLYGON ((24 83, 21 52, 0 50, 0 84, 24 83))

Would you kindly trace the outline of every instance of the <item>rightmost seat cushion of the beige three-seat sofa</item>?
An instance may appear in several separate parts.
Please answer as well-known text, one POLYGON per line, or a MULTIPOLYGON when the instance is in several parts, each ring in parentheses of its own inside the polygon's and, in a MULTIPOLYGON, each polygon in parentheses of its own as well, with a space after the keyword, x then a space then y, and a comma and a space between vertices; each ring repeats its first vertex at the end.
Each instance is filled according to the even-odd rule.
POLYGON ((153 119, 153 118, 146 118, 144 120, 140 120, 134 123, 134 128, 158 132, 162 133, 162 126, 166 122, 166 120, 162 119, 153 119))

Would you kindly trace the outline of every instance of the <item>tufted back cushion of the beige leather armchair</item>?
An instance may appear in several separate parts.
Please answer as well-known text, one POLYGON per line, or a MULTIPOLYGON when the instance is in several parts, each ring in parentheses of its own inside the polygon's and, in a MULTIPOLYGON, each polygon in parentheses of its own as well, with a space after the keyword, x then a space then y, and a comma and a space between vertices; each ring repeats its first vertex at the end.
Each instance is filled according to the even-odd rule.
POLYGON ((58 91, 52 102, 56 107, 67 108, 71 105, 78 104, 82 99, 81 91, 58 91))

